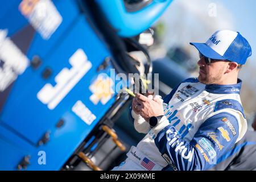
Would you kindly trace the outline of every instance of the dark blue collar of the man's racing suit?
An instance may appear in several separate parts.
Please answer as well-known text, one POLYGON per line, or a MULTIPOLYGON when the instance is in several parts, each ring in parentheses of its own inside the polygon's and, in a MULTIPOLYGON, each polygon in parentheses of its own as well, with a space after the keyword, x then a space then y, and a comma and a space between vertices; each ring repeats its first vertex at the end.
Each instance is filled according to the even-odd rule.
POLYGON ((227 93, 240 94, 241 86, 242 86, 242 80, 240 78, 237 78, 237 84, 230 84, 230 85, 210 84, 210 85, 205 85, 205 90, 207 92, 215 93, 215 94, 227 94, 227 93))

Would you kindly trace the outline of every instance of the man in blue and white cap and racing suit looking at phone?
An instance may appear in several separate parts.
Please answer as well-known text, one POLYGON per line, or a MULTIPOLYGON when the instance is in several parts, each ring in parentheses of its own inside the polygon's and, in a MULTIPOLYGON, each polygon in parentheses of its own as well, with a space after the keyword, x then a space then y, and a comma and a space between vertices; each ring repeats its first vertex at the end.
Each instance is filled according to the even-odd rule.
MULTIPOLYGON (((147 135, 113 170, 205 170, 246 132, 240 100, 241 65, 251 47, 239 32, 215 32, 191 43, 200 55, 198 78, 188 78, 164 98, 136 94, 131 115, 147 135)), ((171 78, 170 78, 171 79, 171 78)))

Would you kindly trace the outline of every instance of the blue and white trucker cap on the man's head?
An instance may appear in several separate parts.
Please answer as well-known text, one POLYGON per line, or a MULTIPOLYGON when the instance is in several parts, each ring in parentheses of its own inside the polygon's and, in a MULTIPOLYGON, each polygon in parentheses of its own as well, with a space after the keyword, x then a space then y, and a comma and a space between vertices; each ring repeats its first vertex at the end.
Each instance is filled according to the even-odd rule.
POLYGON ((216 31, 206 43, 190 43, 204 56, 245 64, 251 56, 251 46, 239 33, 230 30, 216 31))

